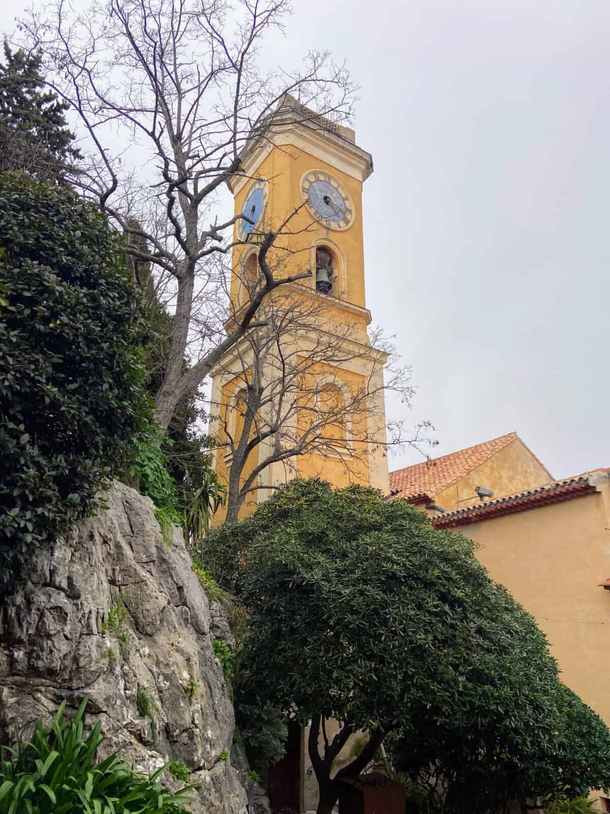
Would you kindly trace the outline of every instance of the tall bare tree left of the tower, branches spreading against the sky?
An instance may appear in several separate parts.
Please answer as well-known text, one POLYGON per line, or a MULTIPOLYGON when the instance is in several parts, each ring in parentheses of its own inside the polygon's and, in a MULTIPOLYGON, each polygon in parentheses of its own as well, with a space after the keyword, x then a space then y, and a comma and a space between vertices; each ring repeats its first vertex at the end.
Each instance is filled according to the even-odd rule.
POLYGON ((268 262, 294 213, 273 229, 259 225, 260 284, 224 331, 226 260, 242 243, 237 219, 248 218, 219 222, 221 185, 243 174, 249 141, 272 139, 285 126, 286 107, 292 122, 317 124, 320 115, 349 116, 355 98, 345 68, 326 52, 310 53, 303 71, 261 72, 265 34, 281 28, 288 11, 288 0, 237 0, 233 7, 224 0, 109 0, 86 12, 59 0, 21 25, 45 59, 48 84, 72 105, 94 148, 77 183, 133 237, 129 251, 150 261, 156 291, 174 313, 156 394, 161 427, 255 329, 268 295, 310 274, 277 266, 274 274, 268 262), (145 244, 150 255, 138 253, 145 244))

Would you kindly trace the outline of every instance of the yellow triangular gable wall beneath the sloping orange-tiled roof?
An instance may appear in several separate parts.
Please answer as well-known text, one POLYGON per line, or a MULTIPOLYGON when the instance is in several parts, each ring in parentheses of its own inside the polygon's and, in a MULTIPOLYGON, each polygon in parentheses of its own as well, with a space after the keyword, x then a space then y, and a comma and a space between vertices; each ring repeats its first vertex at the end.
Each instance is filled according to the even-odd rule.
POLYGON ((496 500, 548 484, 552 480, 547 468, 516 438, 456 484, 438 492, 434 496, 434 503, 442 505, 446 511, 465 509, 481 502, 474 491, 477 486, 490 488, 496 500))

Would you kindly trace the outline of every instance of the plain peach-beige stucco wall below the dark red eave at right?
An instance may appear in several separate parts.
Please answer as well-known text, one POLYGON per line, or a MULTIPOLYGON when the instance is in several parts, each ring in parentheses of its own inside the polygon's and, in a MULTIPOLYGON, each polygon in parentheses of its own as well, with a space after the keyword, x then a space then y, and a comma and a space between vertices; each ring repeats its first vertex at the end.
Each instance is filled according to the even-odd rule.
MULTIPOLYGON (((608 487, 604 487, 608 489, 608 487)), ((610 725, 610 522, 600 492, 458 527, 534 615, 562 680, 610 725)))

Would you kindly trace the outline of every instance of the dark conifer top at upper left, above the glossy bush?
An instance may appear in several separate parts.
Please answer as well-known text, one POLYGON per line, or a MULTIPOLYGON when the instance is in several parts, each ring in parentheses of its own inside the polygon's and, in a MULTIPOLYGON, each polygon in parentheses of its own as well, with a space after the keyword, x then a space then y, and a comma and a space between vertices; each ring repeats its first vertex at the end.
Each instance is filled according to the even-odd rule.
POLYGON ((23 170, 40 181, 62 181, 81 158, 63 114, 68 103, 45 90, 41 57, 12 52, 0 65, 0 173, 23 170))

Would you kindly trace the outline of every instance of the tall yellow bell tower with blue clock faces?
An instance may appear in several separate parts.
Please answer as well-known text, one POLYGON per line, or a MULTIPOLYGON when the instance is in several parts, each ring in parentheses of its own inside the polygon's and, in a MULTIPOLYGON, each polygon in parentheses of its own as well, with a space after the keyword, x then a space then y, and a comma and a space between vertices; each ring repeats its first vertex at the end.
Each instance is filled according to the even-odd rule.
MULTIPOLYGON (((370 484, 389 493, 383 401, 387 355, 371 346, 367 334, 371 315, 364 300, 362 188, 372 172, 372 156, 356 145, 354 130, 317 116, 286 94, 271 126, 242 151, 242 173, 229 181, 235 215, 243 214, 247 220, 235 226, 235 239, 246 243, 233 254, 228 328, 247 307, 257 285, 257 236, 273 230, 278 237, 268 262, 274 276, 303 277, 279 287, 268 299, 281 296, 286 303, 292 298, 294 303, 307 303, 302 310, 316 314, 311 326, 295 320, 297 326, 290 326, 290 336, 282 342, 290 345, 292 358, 310 361, 322 341, 325 348, 333 347, 326 357, 320 354, 303 366, 299 386, 307 395, 294 408, 292 429, 285 433, 290 440, 270 432, 256 444, 242 469, 242 482, 265 460, 281 457, 273 456, 274 450, 296 444, 308 427, 315 427, 326 399, 334 419, 318 432, 324 443, 304 444, 298 454, 272 461, 257 472, 240 518, 251 514, 274 486, 294 476, 320 475, 335 486, 370 484), (345 418, 338 414, 341 404, 346 405, 345 418)), ((250 369, 244 360, 249 354, 251 343, 244 338, 212 373, 210 431, 224 444, 215 450, 215 468, 227 482, 244 422, 240 405, 247 400, 244 383, 250 369)), ((280 352, 282 357, 288 355, 280 352)), ((272 367, 277 373, 277 364, 272 367)), ((262 376, 269 380, 268 374, 262 376)), ((279 400, 281 387, 274 386, 279 400)), ((274 397, 268 399, 268 409, 273 408, 274 397)), ((297 401, 293 399, 293 405, 297 401)), ((222 515, 218 513, 215 523, 222 515)))

